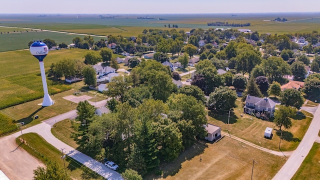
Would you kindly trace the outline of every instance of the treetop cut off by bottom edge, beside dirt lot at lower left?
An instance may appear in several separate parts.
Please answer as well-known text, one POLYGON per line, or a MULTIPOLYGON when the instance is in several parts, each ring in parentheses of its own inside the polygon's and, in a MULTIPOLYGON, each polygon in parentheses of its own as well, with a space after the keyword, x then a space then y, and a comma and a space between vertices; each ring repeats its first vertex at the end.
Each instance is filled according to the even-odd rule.
POLYGON ((49 161, 46 167, 38 166, 33 170, 34 180, 71 180, 71 176, 56 161, 49 161))

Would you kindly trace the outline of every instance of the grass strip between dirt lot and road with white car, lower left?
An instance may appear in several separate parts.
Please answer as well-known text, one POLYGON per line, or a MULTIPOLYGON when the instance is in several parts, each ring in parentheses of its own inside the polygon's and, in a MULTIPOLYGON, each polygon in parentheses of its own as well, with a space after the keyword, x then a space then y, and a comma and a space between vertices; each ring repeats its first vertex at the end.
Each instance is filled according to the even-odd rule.
MULTIPOLYGON (((25 143, 21 144, 20 137, 16 138, 16 143, 21 144, 21 147, 28 153, 39 159, 44 164, 48 163, 49 160, 54 160, 61 168, 63 168, 63 160, 61 159, 60 150, 53 147, 36 133, 23 134, 23 138, 25 143)), ((99 174, 68 156, 65 157, 65 167, 67 172, 74 179, 83 179, 83 177, 87 177, 85 179, 104 179, 99 174)))

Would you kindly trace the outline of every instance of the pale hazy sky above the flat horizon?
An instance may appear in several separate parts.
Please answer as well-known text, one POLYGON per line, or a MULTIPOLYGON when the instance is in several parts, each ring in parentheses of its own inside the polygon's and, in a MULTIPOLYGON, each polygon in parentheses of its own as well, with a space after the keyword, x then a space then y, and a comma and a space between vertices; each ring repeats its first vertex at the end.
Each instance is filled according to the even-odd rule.
POLYGON ((319 0, 1 0, 0 13, 319 12, 319 0))

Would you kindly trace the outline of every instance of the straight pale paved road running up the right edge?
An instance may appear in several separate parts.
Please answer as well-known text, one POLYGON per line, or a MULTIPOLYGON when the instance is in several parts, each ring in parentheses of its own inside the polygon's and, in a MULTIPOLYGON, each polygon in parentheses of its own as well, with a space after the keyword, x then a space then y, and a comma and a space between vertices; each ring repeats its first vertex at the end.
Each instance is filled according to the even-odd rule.
POLYGON ((314 117, 302 138, 298 147, 290 155, 288 160, 284 163, 281 169, 273 177, 274 180, 291 179, 294 173, 297 171, 305 156, 309 153, 313 142, 319 138, 318 132, 320 130, 320 105, 318 105, 314 117))

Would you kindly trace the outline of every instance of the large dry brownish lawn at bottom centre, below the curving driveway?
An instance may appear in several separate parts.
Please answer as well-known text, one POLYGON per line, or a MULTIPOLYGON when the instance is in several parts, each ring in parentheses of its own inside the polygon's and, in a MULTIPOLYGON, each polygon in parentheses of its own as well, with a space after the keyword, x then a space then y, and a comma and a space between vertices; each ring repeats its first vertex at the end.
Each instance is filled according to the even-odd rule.
POLYGON ((173 162, 163 163, 162 178, 154 173, 145 179, 271 179, 285 162, 279 157, 225 136, 217 143, 199 141, 173 162), (201 160, 200 160, 201 159, 201 160))

